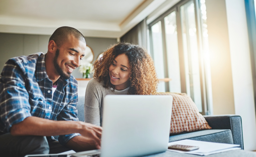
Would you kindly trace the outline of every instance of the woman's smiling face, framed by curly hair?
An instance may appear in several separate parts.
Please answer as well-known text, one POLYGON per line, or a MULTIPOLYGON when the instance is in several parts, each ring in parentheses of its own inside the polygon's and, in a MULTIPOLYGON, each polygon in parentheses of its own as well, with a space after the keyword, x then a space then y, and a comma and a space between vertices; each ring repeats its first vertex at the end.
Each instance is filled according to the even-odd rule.
POLYGON ((129 86, 130 64, 125 54, 118 55, 109 67, 110 82, 116 90, 123 90, 129 86))

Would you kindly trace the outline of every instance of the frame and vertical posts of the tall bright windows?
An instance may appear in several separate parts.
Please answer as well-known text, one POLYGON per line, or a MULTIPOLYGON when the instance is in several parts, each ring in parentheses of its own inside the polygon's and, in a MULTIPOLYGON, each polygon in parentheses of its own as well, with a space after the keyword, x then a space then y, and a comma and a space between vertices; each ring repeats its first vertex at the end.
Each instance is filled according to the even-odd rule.
MULTIPOLYGON (((153 54, 153 40, 152 40, 152 30, 151 27, 157 22, 161 21, 162 26, 162 46, 163 46, 163 56, 164 56, 164 72, 165 77, 168 78, 168 59, 167 59, 167 46, 166 46, 166 29, 165 29, 165 21, 164 18, 169 15, 171 12, 175 11, 176 13, 176 26, 177 26, 177 41, 178 41, 178 53, 179 53, 179 68, 180 68, 180 83, 181 83, 181 92, 186 93, 186 76, 185 76, 185 64, 184 64, 184 50, 183 50, 183 41, 182 41, 182 28, 181 28, 181 17, 180 17, 180 7, 185 3, 193 1, 194 10, 195 10, 195 22, 196 22, 196 35, 197 35, 197 47, 198 47, 198 60, 199 60, 199 76, 200 76, 200 88, 201 88, 201 102, 202 102, 202 115, 209 114, 207 104, 207 84, 205 83, 205 69, 204 69, 204 54, 203 54, 203 45, 202 45, 202 20, 201 20, 201 12, 200 12, 200 2, 199 0, 181 0, 175 5, 173 5, 170 9, 168 9, 165 13, 160 15, 158 18, 153 20, 148 24, 149 29, 149 39, 150 39, 150 53, 154 59, 153 54)), ((166 91, 170 91, 169 83, 165 83, 166 91)))

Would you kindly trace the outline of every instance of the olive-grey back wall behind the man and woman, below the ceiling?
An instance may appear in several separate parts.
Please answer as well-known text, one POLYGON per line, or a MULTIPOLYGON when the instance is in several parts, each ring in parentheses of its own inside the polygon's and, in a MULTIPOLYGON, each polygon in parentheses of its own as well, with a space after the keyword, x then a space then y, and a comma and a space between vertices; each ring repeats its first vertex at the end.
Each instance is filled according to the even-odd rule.
MULTIPOLYGON (((0 71, 4 63, 12 57, 29 55, 36 52, 47 53, 50 35, 28 35, 0 33, 0 71)), ((94 60, 106 50, 111 44, 116 43, 115 38, 91 38, 85 37, 86 44, 94 52, 94 60)), ((79 69, 73 71, 75 78, 82 78, 79 69)))

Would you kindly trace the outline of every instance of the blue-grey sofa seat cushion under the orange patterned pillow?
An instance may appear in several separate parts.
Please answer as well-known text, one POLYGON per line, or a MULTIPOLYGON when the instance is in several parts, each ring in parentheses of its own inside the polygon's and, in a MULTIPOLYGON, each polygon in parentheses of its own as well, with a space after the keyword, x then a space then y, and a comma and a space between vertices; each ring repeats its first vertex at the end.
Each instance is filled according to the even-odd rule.
POLYGON ((232 133, 228 129, 202 130, 202 131, 196 131, 191 133, 173 135, 173 136, 170 136, 169 142, 185 140, 185 139, 233 144, 232 133))

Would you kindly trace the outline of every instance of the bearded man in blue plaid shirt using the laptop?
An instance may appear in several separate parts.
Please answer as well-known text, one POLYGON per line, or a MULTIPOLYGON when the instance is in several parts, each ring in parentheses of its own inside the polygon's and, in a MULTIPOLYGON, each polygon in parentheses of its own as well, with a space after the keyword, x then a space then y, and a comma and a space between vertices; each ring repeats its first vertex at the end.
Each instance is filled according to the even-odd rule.
POLYGON ((78 121, 78 82, 85 37, 72 27, 52 34, 47 54, 9 59, 0 75, 0 155, 100 149, 101 127, 78 121), (59 136, 56 142, 51 136, 59 136), (61 145, 60 145, 60 144, 61 145))

